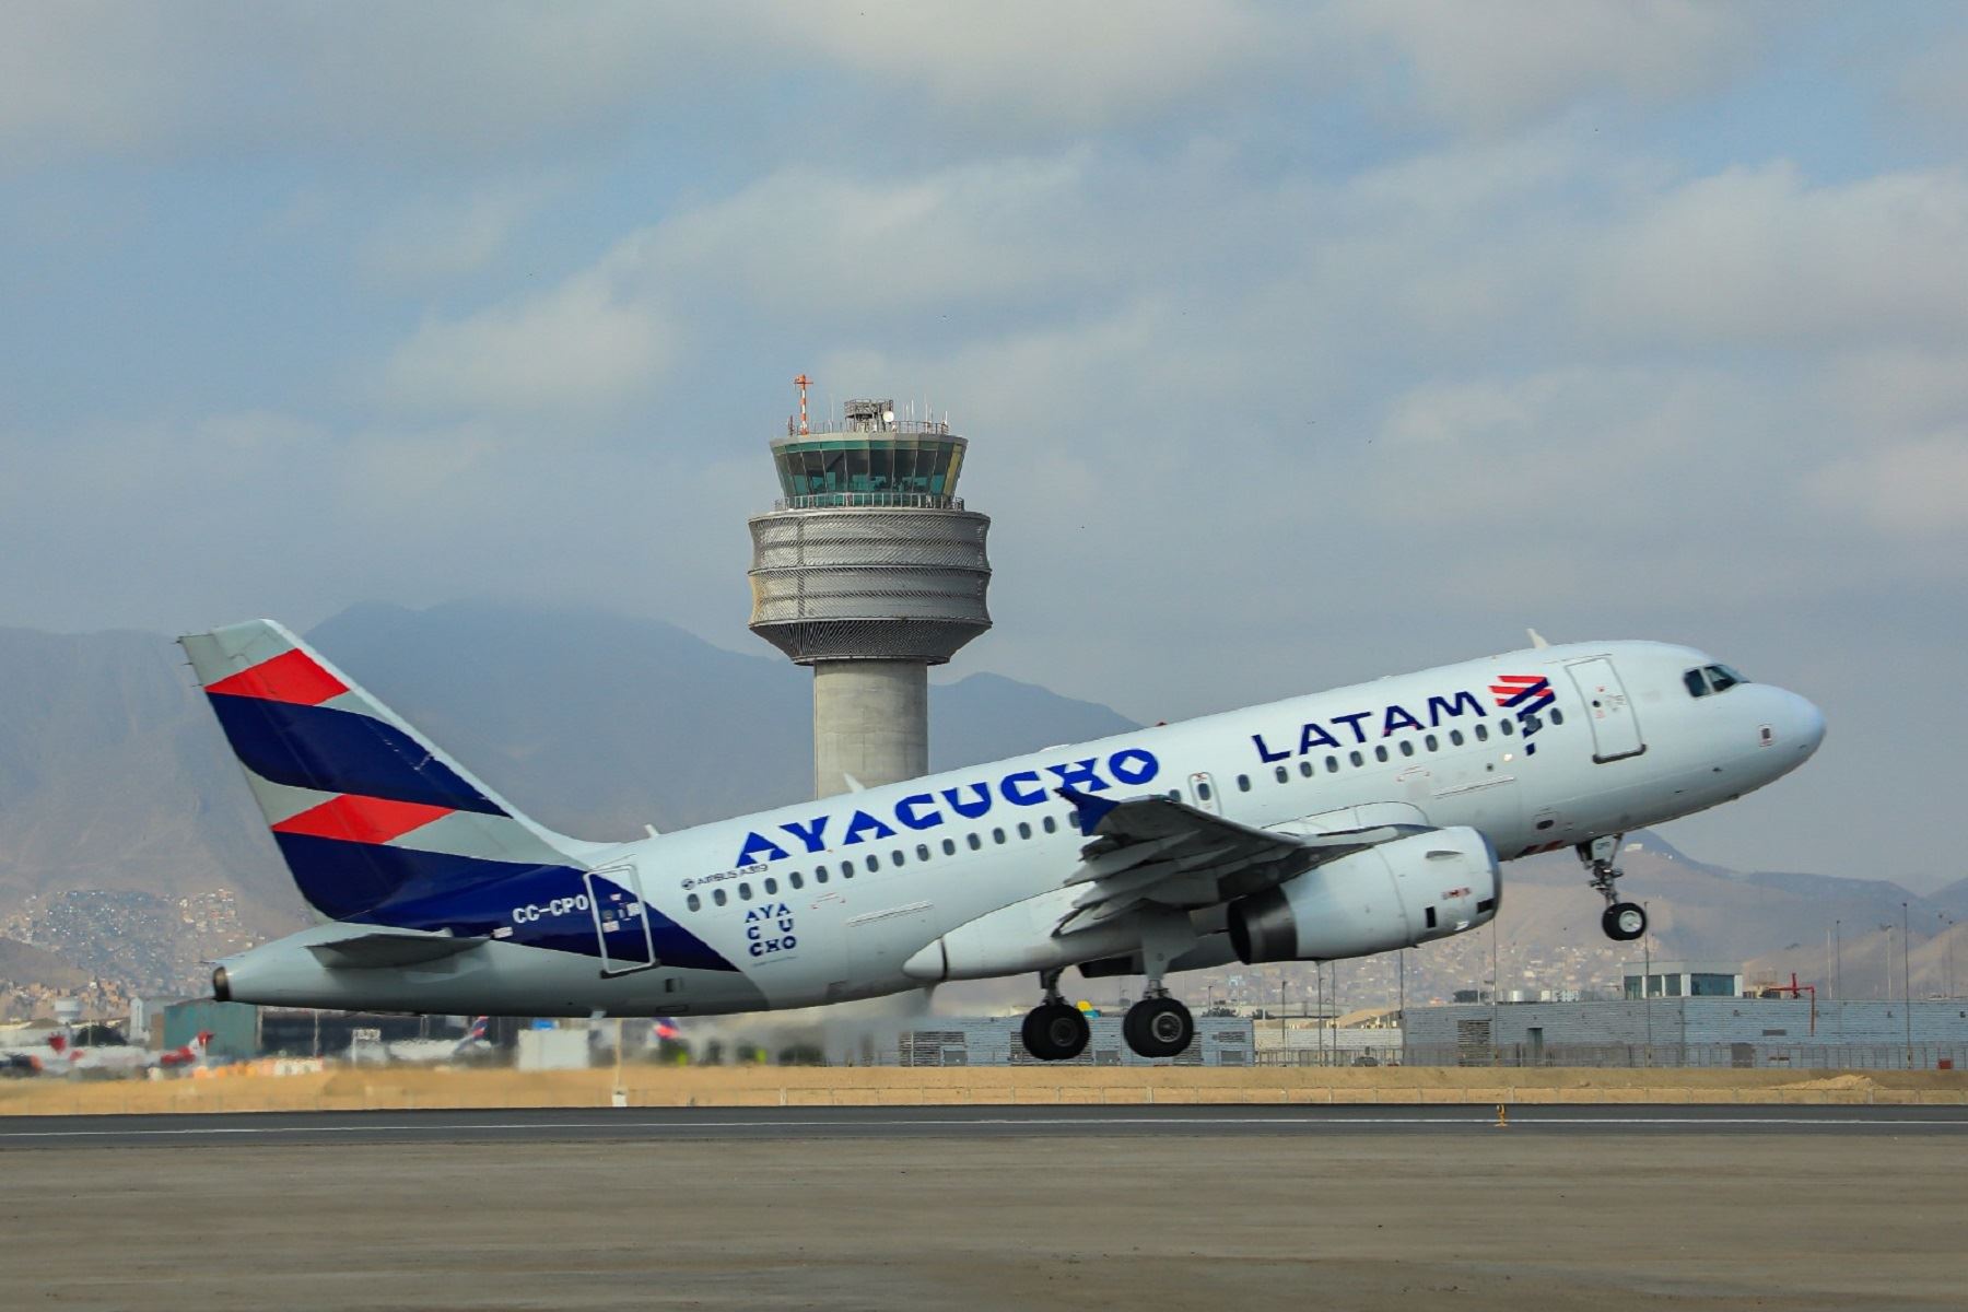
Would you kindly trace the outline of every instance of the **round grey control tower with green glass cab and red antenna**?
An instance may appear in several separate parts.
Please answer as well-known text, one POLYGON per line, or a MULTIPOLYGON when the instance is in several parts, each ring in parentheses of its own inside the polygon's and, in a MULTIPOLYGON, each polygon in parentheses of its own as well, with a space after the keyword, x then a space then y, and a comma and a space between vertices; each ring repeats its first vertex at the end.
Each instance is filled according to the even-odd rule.
POLYGON ((813 667, 813 791, 929 773, 929 667, 990 627, 990 515, 956 498, 968 443, 892 399, 773 439, 779 500, 752 525, 752 631, 813 667))

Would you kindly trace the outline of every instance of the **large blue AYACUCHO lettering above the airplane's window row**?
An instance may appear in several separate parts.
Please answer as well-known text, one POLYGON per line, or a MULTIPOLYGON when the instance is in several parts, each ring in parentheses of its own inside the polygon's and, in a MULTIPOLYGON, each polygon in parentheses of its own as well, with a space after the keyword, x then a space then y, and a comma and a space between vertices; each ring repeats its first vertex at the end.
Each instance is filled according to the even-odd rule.
MULTIPOLYGON (((897 826, 921 832, 947 824, 953 814, 976 820, 1000 803, 1006 806, 1039 806, 1059 789, 1106 793, 1114 787, 1114 783, 1108 783, 1110 779, 1139 787, 1159 773, 1161 761, 1145 747, 1124 747, 1106 759, 1086 757, 1084 761, 1065 761, 1041 769, 1017 769, 1002 779, 978 779, 937 793, 911 793, 892 806, 878 806, 884 814, 856 810, 832 834, 829 834, 829 828, 840 818, 832 814, 813 816, 805 824, 791 820, 779 826, 779 834, 760 834, 754 830, 744 836, 744 848, 738 850, 736 865, 783 862, 791 856, 787 848, 793 842, 789 840, 797 840, 801 852, 811 856, 815 852, 830 852, 836 846, 852 848, 864 842, 895 838, 897 826)), ((705 881, 699 879, 699 883, 705 881)))

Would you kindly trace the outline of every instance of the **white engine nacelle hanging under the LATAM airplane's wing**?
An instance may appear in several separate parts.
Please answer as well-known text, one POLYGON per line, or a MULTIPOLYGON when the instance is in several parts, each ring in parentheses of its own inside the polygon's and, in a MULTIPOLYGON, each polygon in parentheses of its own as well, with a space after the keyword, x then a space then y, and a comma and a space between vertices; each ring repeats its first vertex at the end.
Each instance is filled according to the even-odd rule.
POLYGON ((1230 903, 1240 960, 1330 962, 1411 948, 1496 917, 1496 848, 1445 828, 1342 856, 1230 903))

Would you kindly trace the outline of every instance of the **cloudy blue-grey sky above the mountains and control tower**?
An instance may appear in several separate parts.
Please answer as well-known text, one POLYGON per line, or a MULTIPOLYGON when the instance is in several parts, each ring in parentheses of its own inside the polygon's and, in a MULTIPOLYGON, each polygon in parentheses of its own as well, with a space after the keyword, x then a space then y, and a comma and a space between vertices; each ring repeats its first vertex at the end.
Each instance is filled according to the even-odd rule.
POLYGON ((1139 720, 1553 641, 1816 700, 1738 867, 1968 873, 1968 10, 0 0, 0 624, 600 604, 766 443, 972 441, 994 671, 1139 720))

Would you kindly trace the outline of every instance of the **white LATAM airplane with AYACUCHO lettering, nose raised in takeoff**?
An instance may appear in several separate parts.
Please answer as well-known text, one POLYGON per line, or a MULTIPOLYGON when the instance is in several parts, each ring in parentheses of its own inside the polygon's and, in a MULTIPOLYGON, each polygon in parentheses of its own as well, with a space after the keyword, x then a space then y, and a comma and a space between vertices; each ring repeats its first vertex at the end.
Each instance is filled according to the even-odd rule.
POLYGON ((634 842, 557 834, 289 629, 179 639, 319 923, 220 1001, 685 1017, 1035 974, 1023 1044, 1086 1048, 1059 980, 1370 956, 1490 923, 1500 864, 1572 848, 1614 940, 1626 832, 1803 765, 1824 716, 1681 645, 1511 651, 634 842))

